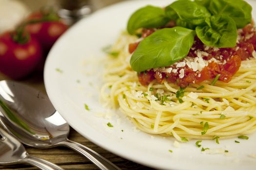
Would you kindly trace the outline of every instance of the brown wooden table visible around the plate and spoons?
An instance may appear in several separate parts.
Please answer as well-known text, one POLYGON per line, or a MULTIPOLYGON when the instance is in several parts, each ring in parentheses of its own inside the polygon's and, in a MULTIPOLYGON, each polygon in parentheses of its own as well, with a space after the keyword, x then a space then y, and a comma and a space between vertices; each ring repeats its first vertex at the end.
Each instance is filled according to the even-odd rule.
MULTIPOLYGON (((29 0, 26 0, 26 1, 29 2, 29 0)), ((31 0, 31 2, 33 1, 31 0)), ((96 9, 99 9, 101 7, 104 7, 106 5, 109 5, 117 1, 120 1, 120 0, 93 0, 93 2, 95 3, 94 5, 96 9)), ((33 5, 34 4, 35 3, 33 2, 33 5)), ((6 79, 9 79, 9 78, 0 73, 0 80, 6 80, 6 79)), ((44 84, 43 84, 42 72, 34 73, 29 78, 22 80, 20 82, 27 85, 31 85, 39 89, 40 91, 46 93, 44 84)), ((97 145, 90 142, 83 136, 79 135, 79 133, 72 128, 71 128, 69 138, 71 140, 74 140, 76 142, 79 142, 91 148, 92 150, 101 154, 102 156, 104 156, 105 158, 107 158, 108 160, 110 160, 111 162, 113 162, 123 170, 150 170, 150 168, 148 167, 144 167, 137 163, 131 162, 129 160, 121 158, 113 153, 110 153, 98 147, 97 145)), ((53 162, 66 170, 97 170, 98 169, 94 164, 88 161, 87 158, 80 155, 79 153, 74 152, 69 148, 58 147, 58 148, 51 148, 51 149, 35 149, 27 146, 25 146, 25 148, 29 154, 48 160, 50 162, 53 162)), ((13 166, 0 166, 0 170, 37 170, 37 168, 34 168, 30 165, 20 164, 20 165, 13 165, 13 166)))

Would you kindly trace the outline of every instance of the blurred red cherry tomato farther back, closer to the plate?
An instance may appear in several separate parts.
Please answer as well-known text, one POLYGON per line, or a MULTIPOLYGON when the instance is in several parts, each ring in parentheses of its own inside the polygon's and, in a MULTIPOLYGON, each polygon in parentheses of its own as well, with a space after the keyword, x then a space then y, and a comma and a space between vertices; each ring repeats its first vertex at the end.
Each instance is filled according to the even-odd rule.
POLYGON ((38 20, 39 22, 26 25, 25 30, 39 40, 46 52, 51 49, 59 36, 68 29, 68 26, 60 22, 58 17, 44 16, 42 12, 31 14, 27 21, 31 20, 38 20))

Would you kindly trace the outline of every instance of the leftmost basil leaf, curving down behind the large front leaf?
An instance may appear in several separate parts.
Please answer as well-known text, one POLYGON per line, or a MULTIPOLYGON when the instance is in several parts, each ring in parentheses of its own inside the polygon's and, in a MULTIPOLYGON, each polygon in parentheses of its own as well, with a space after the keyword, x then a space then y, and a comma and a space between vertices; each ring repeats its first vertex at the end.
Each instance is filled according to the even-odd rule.
POLYGON ((168 22, 164 9, 148 5, 133 13, 127 24, 127 31, 129 34, 134 34, 139 28, 158 28, 168 22))

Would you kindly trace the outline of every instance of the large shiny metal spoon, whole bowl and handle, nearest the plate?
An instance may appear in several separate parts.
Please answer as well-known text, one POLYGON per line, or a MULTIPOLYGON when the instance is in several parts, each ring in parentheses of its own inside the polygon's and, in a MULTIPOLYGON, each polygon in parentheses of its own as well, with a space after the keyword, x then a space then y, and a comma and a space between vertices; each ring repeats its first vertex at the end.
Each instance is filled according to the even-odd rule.
POLYGON ((0 124, 28 146, 67 146, 87 157, 101 170, 120 170, 98 153, 69 140, 69 125, 48 97, 27 85, 0 81, 0 124))

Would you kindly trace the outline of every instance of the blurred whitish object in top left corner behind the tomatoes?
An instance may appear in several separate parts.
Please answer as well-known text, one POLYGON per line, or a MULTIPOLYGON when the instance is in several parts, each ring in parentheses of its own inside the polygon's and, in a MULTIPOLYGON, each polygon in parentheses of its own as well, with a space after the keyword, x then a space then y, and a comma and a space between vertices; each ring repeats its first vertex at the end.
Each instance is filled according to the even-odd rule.
POLYGON ((30 10, 17 0, 0 0, 0 34, 13 30, 30 10))

